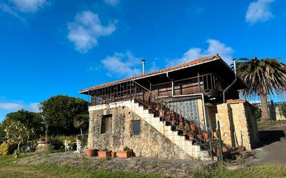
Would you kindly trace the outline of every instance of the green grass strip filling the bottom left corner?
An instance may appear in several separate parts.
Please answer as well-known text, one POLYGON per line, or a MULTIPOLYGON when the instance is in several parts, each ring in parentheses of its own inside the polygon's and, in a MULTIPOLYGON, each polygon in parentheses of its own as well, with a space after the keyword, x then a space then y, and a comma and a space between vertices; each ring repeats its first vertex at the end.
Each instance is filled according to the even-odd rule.
MULTIPOLYGON (((22 155, 23 157, 23 155, 22 155)), ((107 170, 90 170, 89 168, 74 168, 69 166, 56 165, 19 165, 13 163, 16 159, 12 156, 0 156, 0 177, 1 178, 58 178, 58 177, 83 177, 83 178, 163 178, 161 175, 142 174, 131 172, 110 172, 107 170)))

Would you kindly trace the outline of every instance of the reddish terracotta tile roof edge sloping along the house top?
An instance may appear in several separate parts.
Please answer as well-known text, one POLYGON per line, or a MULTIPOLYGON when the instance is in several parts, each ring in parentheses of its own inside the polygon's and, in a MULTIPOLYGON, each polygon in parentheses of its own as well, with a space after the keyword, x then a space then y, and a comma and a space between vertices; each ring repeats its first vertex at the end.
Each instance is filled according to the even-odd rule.
POLYGON ((201 58, 199 58, 197 60, 193 60, 191 62, 186 62, 186 63, 180 64, 178 66, 171 66, 171 67, 169 67, 167 69, 162 69, 162 70, 159 70, 159 71, 153 71, 153 72, 149 72, 149 73, 142 73, 140 75, 136 75, 136 76, 131 77, 131 78, 125 78, 125 79, 117 80, 117 81, 114 81, 114 82, 108 82, 108 83, 105 83, 105 84, 99 84, 99 85, 96 85, 94 87, 90 87, 88 89, 82 89, 80 91, 80 93, 85 93, 85 92, 87 92, 89 90, 99 89, 99 88, 102 88, 102 87, 108 87, 108 86, 113 85, 113 84, 118 84, 118 83, 121 83, 121 82, 126 82, 126 81, 129 81, 129 80, 146 77, 146 76, 149 76, 149 75, 165 73, 167 71, 174 71, 174 70, 178 70, 178 69, 183 69, 183 68, 186 68, 186 67, 194 66, 194 65, 197 65, 197 64, 203 64, 205 62, 209 62, 209 61, 214 60, 214 59, 215 60, 221 59, 221 57, 219 57, 218 54, 217 55, 210 55, 210 56, 206 56, 206 57, 201 57, 201 58))

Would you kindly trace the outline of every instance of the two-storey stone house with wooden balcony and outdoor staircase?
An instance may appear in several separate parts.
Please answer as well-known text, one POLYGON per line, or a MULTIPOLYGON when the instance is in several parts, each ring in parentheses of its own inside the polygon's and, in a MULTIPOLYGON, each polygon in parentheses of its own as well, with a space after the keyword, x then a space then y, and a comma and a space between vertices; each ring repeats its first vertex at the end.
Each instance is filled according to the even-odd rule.
POLYGON ((242 80, 224 92, 234 78, 212 55, 83 89, 90 101, 87 146, 115 152, 127 146, 136 157, 210 159, 220 121, 224 143, 250 150, 259 140, 255 109, 239 100, 242 80))

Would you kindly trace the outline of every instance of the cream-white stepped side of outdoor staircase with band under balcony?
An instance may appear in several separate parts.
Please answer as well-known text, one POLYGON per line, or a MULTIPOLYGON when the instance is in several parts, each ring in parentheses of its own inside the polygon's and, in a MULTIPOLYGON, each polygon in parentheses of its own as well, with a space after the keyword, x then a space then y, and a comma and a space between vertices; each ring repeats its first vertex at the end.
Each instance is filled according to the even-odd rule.
POLYGON ((210 153, 208 150, 201 150, 201 145, 194 145, 192 141, 187 140, 185 135, 180 136, 179 132, 171 130, 171 125, 167 125, 165 121, 160 121, 159 116, 156 114, 150 114, 149 109, 144 109, 144 106, 135 102, 135 100, 125 100, 117 103, 110 103, 108 105, 96 105, 89 108, 92 110, 108 109, 115 107, 128 107, 135 114, 140 116, 144 121, 149 123, 158 132, 166 136, 172 143, 178 145, 179 148, 184 150, 187 154, 195 159, 210 160, 210 153))

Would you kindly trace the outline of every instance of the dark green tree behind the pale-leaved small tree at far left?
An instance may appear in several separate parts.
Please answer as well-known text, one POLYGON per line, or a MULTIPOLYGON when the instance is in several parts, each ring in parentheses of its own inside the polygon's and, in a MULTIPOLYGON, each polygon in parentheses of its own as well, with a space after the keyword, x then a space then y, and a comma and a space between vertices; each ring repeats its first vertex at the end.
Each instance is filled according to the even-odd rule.
POLYGON ((33 139, 44 133, 44 120, 40 114, 36 112, 28 112, 24 109, 11 112, 6 115, 3 125, 6 125, 7 121, 19 121, 28 129, 33 130, 33 139))

